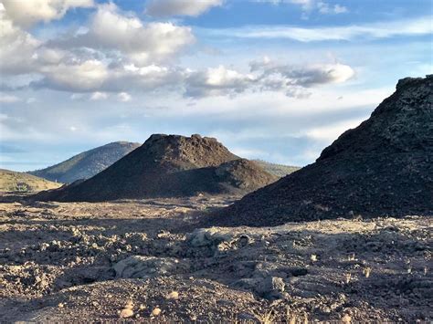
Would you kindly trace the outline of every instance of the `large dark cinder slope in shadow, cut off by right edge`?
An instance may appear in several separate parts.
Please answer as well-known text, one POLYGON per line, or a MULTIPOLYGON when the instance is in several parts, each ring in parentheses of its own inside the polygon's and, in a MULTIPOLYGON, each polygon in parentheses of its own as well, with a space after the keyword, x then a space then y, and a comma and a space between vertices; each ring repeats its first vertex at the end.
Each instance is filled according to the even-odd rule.
POLYGON ((249 193, 213 225, 280 225, 337 217, 433 215, 433 76, 404 78, 316 162, 249 193))

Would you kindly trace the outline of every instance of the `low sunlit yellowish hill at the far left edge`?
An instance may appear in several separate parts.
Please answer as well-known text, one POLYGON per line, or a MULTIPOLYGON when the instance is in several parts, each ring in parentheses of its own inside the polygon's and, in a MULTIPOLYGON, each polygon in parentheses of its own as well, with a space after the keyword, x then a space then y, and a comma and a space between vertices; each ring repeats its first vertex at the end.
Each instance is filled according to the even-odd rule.
POLYGON ((25 172, 0 169, 0 192, 40 192, 60 185, 25 172))

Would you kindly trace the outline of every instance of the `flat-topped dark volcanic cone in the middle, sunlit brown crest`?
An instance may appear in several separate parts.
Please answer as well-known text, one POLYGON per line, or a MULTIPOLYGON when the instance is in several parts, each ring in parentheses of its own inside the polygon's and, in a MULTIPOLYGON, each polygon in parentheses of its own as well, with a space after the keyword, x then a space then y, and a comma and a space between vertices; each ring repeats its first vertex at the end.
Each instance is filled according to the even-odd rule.
POLYGON ((95 202, 248 193, 276 180, 254 162, 229 152, 216 139, 156 134, 89 180, 40 193, 35 199, 95 202))

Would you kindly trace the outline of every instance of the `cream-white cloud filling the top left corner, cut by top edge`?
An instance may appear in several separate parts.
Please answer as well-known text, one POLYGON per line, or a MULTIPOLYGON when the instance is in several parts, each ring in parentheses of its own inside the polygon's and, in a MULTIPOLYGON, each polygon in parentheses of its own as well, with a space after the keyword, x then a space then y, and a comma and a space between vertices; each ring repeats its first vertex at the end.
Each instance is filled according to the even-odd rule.
POLYGON ((14 23, 25 27, 60 19, 71 8, 94 5, 93 0, 2 0, 2 3, 14 23))

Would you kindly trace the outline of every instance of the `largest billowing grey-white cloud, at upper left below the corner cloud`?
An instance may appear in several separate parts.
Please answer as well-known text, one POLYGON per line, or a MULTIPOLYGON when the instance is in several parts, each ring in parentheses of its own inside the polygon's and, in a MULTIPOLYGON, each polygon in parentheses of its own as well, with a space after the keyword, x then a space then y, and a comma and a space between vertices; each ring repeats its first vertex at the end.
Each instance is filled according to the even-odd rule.
MULTIPOLYGON (((33 88, 119 92, 170 87, 183 79, 172 57, 195 40, 189 27, 145 25, 113 4, 100 5, 88 28, 45 43, 16 26, 1 5, 0 15, 0 70, 10 78, 33 76, 26 77, 33 88)), ((16 88, 3 81, 4 89, 16 88)))

